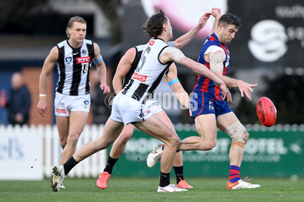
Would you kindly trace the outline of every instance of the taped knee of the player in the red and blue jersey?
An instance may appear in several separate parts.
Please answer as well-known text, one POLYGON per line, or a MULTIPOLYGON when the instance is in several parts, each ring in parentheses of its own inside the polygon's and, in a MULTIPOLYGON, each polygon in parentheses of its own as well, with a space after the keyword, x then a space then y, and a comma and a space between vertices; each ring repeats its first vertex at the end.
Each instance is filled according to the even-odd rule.
POLYGON ((227 135, 232 138, 231 147, 237 147, 244 150, 245 144, 247 143, 249 133, 241 122, 235 122, 228 126, 225 131, 227 135))

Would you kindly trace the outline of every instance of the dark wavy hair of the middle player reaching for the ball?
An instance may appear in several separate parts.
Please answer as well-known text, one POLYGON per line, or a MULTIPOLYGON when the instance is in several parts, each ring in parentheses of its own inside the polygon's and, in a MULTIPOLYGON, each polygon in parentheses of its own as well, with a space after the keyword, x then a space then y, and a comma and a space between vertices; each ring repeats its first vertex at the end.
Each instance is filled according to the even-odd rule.
POLYGON ((163 33, 163 24, 167 24, 167 22, 168 19, 165 13, 160 9, 145 21, 142 29, 150 38, 155 38, 163 33))

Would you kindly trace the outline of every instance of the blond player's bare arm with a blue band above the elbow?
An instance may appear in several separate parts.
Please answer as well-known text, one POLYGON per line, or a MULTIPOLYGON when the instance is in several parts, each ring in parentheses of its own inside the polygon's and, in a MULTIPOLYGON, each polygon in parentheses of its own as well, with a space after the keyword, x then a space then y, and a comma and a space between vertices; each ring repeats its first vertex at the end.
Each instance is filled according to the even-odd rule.
POLYGON ((98 77, 100 80, 100 88, 103 90, 103 94, 107 94, 110 92, 110 87, 106 84, 106 67, 103 62, 103 59, 100 55, 100 49, 97 43, 93 43, 95 57, 93 58, 93 62, 96 65, 98 77))

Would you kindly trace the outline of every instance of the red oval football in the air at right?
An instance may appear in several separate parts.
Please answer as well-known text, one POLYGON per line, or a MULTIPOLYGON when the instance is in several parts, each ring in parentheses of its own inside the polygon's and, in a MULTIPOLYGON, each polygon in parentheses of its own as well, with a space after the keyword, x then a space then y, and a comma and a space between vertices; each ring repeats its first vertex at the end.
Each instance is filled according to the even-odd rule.
POLYGON ((259 121, 267 127, 276 123, 277 109, 268 97, 261 97, 256 104, 256 114, 259 121))

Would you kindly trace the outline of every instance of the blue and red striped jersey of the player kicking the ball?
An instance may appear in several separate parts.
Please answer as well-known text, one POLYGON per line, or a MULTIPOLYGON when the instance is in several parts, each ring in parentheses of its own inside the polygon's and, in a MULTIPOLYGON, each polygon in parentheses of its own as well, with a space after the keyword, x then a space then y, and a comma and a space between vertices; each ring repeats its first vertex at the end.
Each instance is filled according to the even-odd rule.
MULTIPOLYGON (((229 72, 229 64, 230 64, 230 53, 227 49, 227 46, 222 44, 217 36, 215 35, 215 33, 211 34, 205 41, 203 47, 202 47, 202 51, 200 53, 200 57, 198 62, 205 65, 207 68, 210 69, 210 64, 206 62, 205 60, 205 53, 207 51, 207 49, 210 46, 218 46, 220 48, 222 48, 226 54, 226 60, 223 62, 224 65, 224 69, 223 69, 223 75, 226 76, 229 72)), ((214 98, 216 100, 219 101, 223 101, 222 99, 222 92, 219 88, 219 86, 216 86, 213 81, 207 77, 204 77, 202 75, 198 74, 198 81, 196 83, 196 85, 194 86, 193 92, 198 92, 198 91, 204 91, 204 92, 209 92, 211 93, 214 98)))

